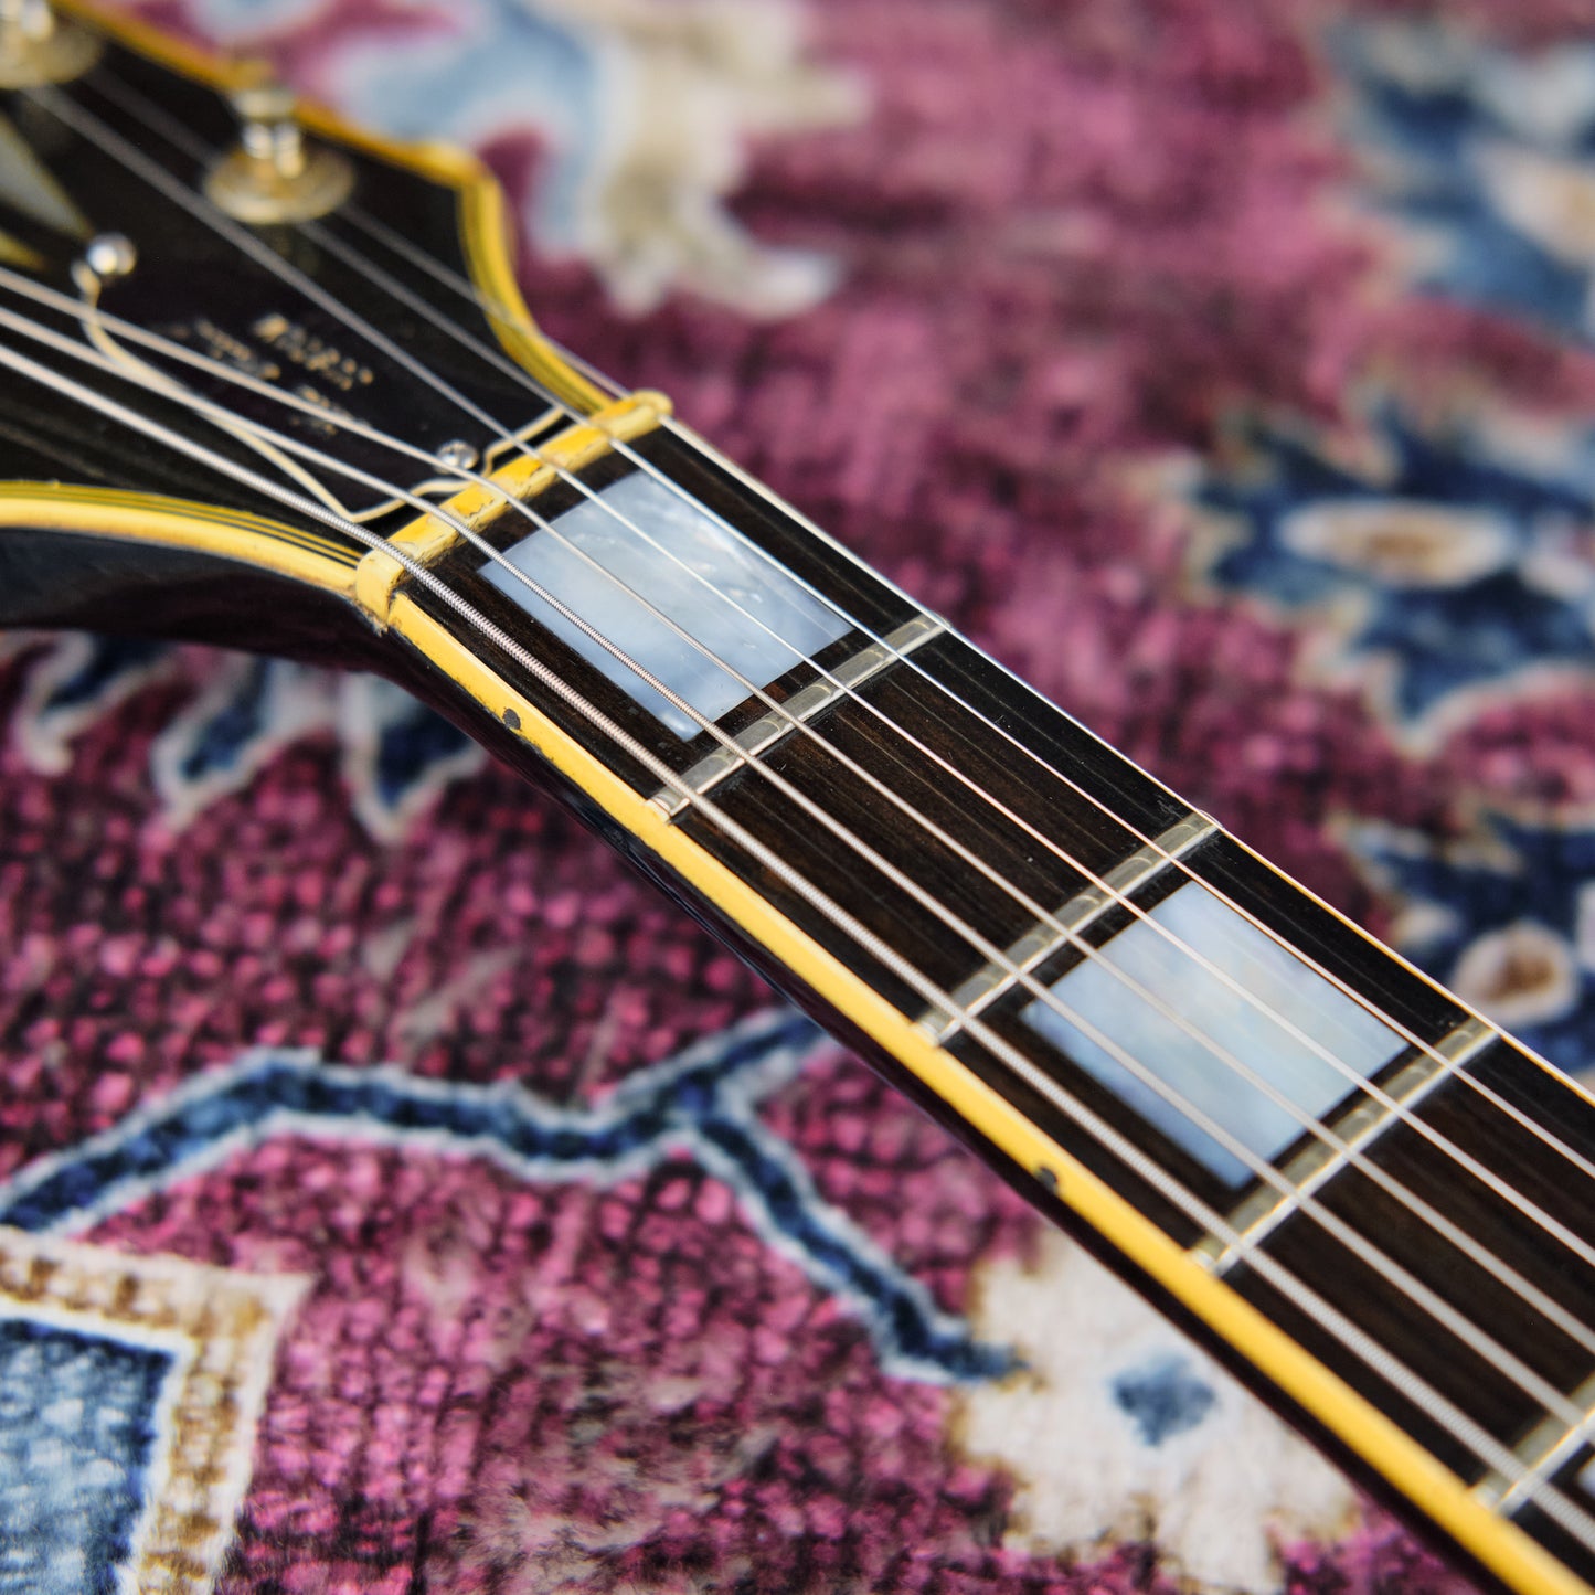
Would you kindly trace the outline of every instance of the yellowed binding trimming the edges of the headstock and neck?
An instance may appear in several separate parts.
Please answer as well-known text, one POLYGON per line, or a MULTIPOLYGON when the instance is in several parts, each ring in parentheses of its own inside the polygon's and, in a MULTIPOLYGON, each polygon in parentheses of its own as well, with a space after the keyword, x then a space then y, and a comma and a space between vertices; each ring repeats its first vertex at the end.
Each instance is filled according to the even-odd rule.
MULTIPOLYGON (((223 93, 257 83, 263 75, 258 67, 223 62, 175 41, 147 24, 113 14, 93 0, 57 0, 57 3, 64 11, 102 29, 128 48, 223 93)), ((485 314, 499 341, 561 400, 587 415, 603 408, 608 396, 565 362, 538 332, 515 278, 502 191, 480 161, 448 145, 402 144, 372 136, 314 104, 301 105, 298 115, 313 132, 394 164, 407 166, 455 188, 459 195, 461 233, 471 276, 485 300, 485 314)), ((678 431, 703 447, 713 458, 724 458, 687 427, 678 427, 678 431)), ((762 498, 774 501, 769 488, 762 483, 729 461, 726 466, 738 480, 750 483, 762 498)), ((297 576, 313 587, 352 598, 354 565, 349 563, 351 557, 346 550, 322 544, 313 552, 309 544, 319 542, 319 539, 311 539, 292 526, 262 517, 219 514, 209 506, 164 499, 155 494, 113 494, 62 483, 11 482, 0 483, 0 525, 100 533, 203 549, 226 558, 242 558, 281 574, 297 576), (236 539, 242 539, 242 545, 236 539)), ((804 525, 810 523, 804 522, 804 525)), ((845 550, 823 530, 812 530, 828 545, 841 549, 857 560, 857 555, 845 550)), ((392 624, 424 657, 439 665, 494 718, 499 718, 504 708, 515 708, 522 718, 522 735, 544 758, 592 794, 640 841, 670 863, 683 879, 724 909, 750 935, 783 957, 820 995, 919 1077, 994 1147, 1018 1164, 1035 1171, 1038 1177, 1046 1177, 1048 1183, 1056 1182, 1056 1193, 1065 1206, 1073 1209, 1209 1329, 1241 1351, 1303 1410, 1322 1421, 1376 1472, 1389 1479, 1487 1568, 1522 1587, 1542 1589, 1547 1595, 1550 1592, 1587 1595, 1584 1582, 1549 1552, 1534 1544, 1515 1525, 1491 1514, 1455 1474, 1405 1436, 1397 1424, 1330 1373, 1289 1335, 1270 1324, 1228 1286, 1207 1274, 1174 1241, 1136 1212, 1124 1198, 1083 1164, 1078 1164, 951 1054, 928 1042, 909 1019, 826 954, 731 869, 713 860, 683 833, 673 829, 657 809, 638 798, 597 758, 536 710, 530 700, 486 670, 469 649, 426 617, 402 593, 392 605, 392 624)), ((1021 678, 1014 676, 1013 679, 1019 681, 1021 678)), ((1244 844, 1241 845, 1244 847, 1244 844)), ((1260 861, 1268 864, 1266 860, 1260 861)), ((1276 866, 1268 864, 1268 868, 1278 872, 1276 866)), ((1372 941, 1367 931, 1354 925, 1345 914, 1316 896, 1313 901, 1372 941)), ((1381 944, 1375 943, 1375 946, 1381 944)), ((1381 951, 1388 949, 1381 946, 1381 951)), ((1391 955, 1424 984, 1443 990, 1431 976, 1416 970, 1410 960, 1394 952, 1391 955)), ((1565 1078, 1538 1054, 1528 1053, 1528 1056, 1547 1072, 1554 1072, 1558 1080, 1565 1078)), ((1576 1081, 1571 1085, 1581 1096, 1595 1104, 1595 1094, 1577 1086, 1576 1081)))

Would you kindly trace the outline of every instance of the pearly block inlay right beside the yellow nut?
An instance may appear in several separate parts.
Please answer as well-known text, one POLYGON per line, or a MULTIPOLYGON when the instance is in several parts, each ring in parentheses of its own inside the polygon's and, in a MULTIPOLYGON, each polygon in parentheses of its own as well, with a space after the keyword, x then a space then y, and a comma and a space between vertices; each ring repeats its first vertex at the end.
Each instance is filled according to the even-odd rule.
MULTIPOLYGON (((852 628, 751 542, 648 472, 584 498, 552 525, 558 536, 534 531, 504 558, 705 719, 748 697, 732 671, 764 687, 852 628)), ((514 571, 494 561, 482 574, 678 737, 702 731, 514 571)))

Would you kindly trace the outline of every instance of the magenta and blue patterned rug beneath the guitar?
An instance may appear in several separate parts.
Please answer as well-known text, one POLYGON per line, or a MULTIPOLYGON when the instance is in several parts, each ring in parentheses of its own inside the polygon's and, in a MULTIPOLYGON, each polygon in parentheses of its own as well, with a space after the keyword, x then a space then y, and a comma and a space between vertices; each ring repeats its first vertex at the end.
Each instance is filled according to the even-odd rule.
MULTIPOLYGON (((140 10, 1595 1069, 1582 0, 140 10)), ((1459 1585, 396 691, 0 649, 0 1590, 1459 1585)))

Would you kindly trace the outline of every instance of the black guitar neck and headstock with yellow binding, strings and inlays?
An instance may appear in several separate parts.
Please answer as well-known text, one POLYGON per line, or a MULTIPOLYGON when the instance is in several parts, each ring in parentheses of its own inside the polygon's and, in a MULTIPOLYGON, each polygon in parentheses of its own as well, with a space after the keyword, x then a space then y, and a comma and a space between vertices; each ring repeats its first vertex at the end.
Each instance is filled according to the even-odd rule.
POLYGON ((498 191, 0 5, 0 625, 378 670, 1461 1558, 1595 1582, 1595 1104, 518 297, 498 191))

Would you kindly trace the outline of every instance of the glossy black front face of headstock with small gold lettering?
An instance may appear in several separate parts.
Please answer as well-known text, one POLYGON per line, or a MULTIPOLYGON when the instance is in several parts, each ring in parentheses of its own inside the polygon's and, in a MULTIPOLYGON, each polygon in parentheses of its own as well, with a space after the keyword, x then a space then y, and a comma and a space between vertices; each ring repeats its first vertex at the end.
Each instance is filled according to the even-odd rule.
POLYGON ((550 410, 601 402, 525 317, 469 160, 300 126, 242 69, 99 38, 67 81, 0 86, 0 345, 56 378, 0 372, 0 483, 337 541, 250 478, 383 526, 415 517, 400 493, 437 493, 439 461, 490 471, 550 410))

